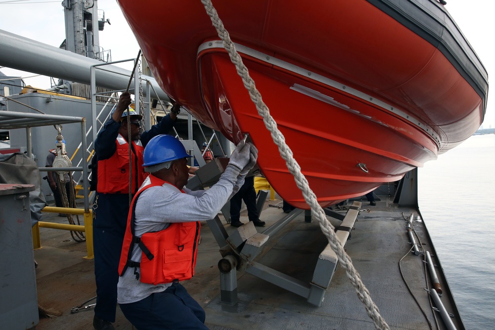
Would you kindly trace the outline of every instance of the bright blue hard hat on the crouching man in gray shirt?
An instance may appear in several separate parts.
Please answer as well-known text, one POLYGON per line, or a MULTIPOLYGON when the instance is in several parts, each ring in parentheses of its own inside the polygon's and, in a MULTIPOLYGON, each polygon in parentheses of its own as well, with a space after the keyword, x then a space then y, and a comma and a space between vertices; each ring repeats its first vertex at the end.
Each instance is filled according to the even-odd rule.
POLYGON ((144 167, 192 157, 186 152, 182 142, 171 135, 162 134, 149 140, 145 148, 144 167))

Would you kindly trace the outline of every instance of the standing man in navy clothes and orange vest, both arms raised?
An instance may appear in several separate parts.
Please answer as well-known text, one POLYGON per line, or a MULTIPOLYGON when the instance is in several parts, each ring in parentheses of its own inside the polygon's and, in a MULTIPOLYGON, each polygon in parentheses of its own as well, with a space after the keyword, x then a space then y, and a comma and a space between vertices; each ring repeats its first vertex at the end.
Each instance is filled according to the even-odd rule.
POLYGON ((179 106, 147 132, 140 133, 143 118, 133 109, 131 94, 120 95, 116 109, 95 141, 98 157, 98 183, 93 236, 95 247, 95 278, 97 305, 93 326, 97 330, 112 330, 117 305, 118 262, 129 211, 129 181, 136 193, 148 176, 143 171, 144 147, 154 136, 168 133, 174 126, 179 106), (132 177, 129 176, 129 144, 127 116, 130 116, 132 177))

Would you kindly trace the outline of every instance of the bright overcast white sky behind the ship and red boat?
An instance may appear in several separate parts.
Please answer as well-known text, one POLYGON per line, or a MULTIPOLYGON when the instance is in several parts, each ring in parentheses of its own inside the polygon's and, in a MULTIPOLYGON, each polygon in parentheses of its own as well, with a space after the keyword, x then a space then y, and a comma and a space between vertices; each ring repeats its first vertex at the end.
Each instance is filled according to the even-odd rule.
MULTIPOLYGON (((199 1, 199 0, 198 0, 199 1)), ((495 0, 446 0, 446 8, 475 49, 488 71, 495 74, 495 0)), ((213 3, 214 4, 214 3, 213 3)), ((138 44, 125 21, 116 0, 99 0, 98 8, 104 10, 105 24, 99 33, 100 46, 111 50, 112 61, 134 58, 138 44)), ((0 29, 22 37, 59 47, 65 39, 64 13, 61 0, 0 0, 0 29)), ((1 51, 1 49, 0 49, 1 51)), ((120 64, 132 70, 132 63, 120 64)), ((8 76, 27 77, 32 74, 8 68, 0 68, 8 76)), ((39 88, 50 86, 49 77, 26 78, 24 82, 39 88)), ((495 128, 495 94, 490 89, 484 128, 495 128)))

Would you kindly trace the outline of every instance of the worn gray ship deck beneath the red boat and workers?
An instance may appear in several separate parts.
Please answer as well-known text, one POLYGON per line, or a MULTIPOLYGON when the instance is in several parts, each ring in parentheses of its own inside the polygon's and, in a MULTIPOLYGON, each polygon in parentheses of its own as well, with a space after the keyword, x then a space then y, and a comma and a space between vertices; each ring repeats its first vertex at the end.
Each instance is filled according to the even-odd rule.
MULTIPOLYGON (((359 212, 351 238, 346 244, 354 267, 391 329, 437 329, 435 316, 439 329, 446 329, 440 314, 433 311, 429 294, 425 291, 425 276, 428 273, 423 262, 424 256, 408 252, 411 244, 405 227, 406 219, 414 213, 416 220, 418 211, 399 207, 393 202, 394 196, 379 194, 378 197, 380 200, 377 200, 376 206, 370 206, 365 199, 361 200, 361 209, 365 210, 359 212), (431 328, 427 318, 432 324, 431 328)), ((257 227, 258 232, 266 230, 286 216, 281 208, 270 207, 270 204, 281 206, 282 200, 267 198, 260 215, 260 219, 267 225, 264 228, 257 227)), ((345 213, 345 210, 334 211, 345 213)), ((229 234, 237 230, 227 224, 223 216, 219 217, 229 234)), ((328 219, 334 226, 341 223, 331 217, 328 219)), ((327 239, 316 221, 305 220, 304 212, 301 212, 282 230, 271 236, 255 261, 309 283, 327 239)), ((66 219, 45 214, 44 221, 65 223, 66 219)), ((247 222, 245 209, 241 213, 241 221, 247 222)), ((419 222, 413 222, 413 227, 423 248, 436 255, 425 223, 420 219, 419 222)), ((84 306, 95 300, 71 314, 73 307, 96 295, 94 261, 83 258, 86 256, 86 244, 74 242, 69 232, 61 230, 41 228, 40 236, 42 248, 34 252, 38 263, 38 303, 44 309, 51 308, 62 312, 62 315, 52 319, 40 318, 36 329, 92 330, 94 312, 91 308, 84 309, 84 306)), ((296 293, 246 272, 237 273, 239 302, 230 306, 221 302, 220 273, 217 267, 220 259, 218 244, 210 228, 204 223, 196 275, 183 284, 205 309, 205 323, 212 330, 375 328, 340 266, 337 267, 325 299, 319 307, 308 303, 306 298, 296 293)), ((452 319, 455 327, 464 329, 440 262, 436 257, 434 262, 439 265, 436 271, 444 291, 442 302, 446 310, 455 316, 452 319)), ((134 329, 118 307, 114 327, 120 330, 134 329)))

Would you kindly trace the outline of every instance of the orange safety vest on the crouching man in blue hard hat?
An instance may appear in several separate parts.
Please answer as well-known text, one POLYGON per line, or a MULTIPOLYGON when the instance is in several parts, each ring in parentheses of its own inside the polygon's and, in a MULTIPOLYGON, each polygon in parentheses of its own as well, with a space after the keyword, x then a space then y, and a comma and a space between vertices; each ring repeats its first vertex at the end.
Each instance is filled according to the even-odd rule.
POLYGON ((134 235, 134 213, 139 195, 150 187, 170 185, 153 175, 149 180, 150 184, 140 189, 132 200, 120 254, 119 275, 123 276, 128 267, 134 267, 136 280, 143 283, 157 285, 189 280, 194 276, 196 266, 199 221, 173 222, 164 230, 145 233, 141 237, 134 235), (141 249, 141 263, 131 260, 134 244, 141 249), (141 276, 136 272, 137 267, 141 268, 141 276))

